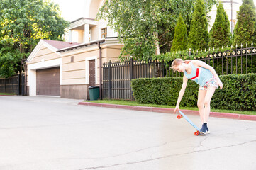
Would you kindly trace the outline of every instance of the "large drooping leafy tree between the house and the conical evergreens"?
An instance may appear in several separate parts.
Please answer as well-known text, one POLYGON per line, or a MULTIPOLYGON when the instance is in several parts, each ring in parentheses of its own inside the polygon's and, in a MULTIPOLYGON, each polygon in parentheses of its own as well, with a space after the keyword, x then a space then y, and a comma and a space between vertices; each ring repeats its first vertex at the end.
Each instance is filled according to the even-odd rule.
MULTIPOLYGON (((111 0, 100 8, 97 19, 107 20, 108 26, 118 32, 118 40, 123 43, 121 58, 148 60, 159 50, 170 50, 180 14, 189 26, 194 1, 111 0)), ((215 0, 207 1, 210 7, 215 0)))

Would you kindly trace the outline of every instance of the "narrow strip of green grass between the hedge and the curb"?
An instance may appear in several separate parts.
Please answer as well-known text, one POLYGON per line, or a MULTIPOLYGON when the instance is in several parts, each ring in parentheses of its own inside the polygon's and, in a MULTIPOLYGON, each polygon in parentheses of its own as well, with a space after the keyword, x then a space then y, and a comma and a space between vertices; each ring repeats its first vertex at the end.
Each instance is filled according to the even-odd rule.
MULTIPOLYGON (((129 106, 148 106, 148 107, 156 107, 156 108, 175 108, 175 106, 157 105, 157 104, 140 104, 140 103, 137 103, 136 101, 122 101, 122 100, 98 100, 98 101, 84 101, 84 102, 107 103, 107 104, 129 105, 129 106)), ((198 108, 191 108, 191 107, 179 107, 179 108, 198 111, 198 108)), ((232 111, 232 110, 223 110, 223 109, 211 109, 211 112, 256 115, 256 111, 232 111)))

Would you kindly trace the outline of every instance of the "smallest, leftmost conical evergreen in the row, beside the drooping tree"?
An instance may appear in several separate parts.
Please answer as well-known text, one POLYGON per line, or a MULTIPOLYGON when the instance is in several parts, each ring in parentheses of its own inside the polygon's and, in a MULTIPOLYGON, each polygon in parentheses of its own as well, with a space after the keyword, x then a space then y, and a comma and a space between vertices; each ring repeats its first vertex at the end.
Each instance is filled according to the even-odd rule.
POLYGON ((179 15, 179 19, 175 26, 174 39, 172 43, 171 51, 182 51, 187 49, 187 28, 182 15, 179 15))

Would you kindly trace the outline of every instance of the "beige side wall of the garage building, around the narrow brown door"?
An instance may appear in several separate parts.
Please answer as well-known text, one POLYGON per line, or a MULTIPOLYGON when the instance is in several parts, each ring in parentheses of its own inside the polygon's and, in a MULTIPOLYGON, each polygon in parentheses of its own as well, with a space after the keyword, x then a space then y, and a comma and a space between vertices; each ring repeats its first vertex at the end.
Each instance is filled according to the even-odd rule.
MULTIPOLYGON (((122 45, 107 45, 101 44, 102 64, 109 60, 118 60, 122 45)), ((84 94, 85 98, 89 97, 89 75, 87 68, 89 60, 96 60, 96 86, 99 86, 99 47, 93 45, 84 47, 83 49, 62 52, 63 62, 63 81, 61 86, 61 94, 64 98, 79 98, 84 94), (74 62, 71 62, 71 57, 74 57, 74 62)))

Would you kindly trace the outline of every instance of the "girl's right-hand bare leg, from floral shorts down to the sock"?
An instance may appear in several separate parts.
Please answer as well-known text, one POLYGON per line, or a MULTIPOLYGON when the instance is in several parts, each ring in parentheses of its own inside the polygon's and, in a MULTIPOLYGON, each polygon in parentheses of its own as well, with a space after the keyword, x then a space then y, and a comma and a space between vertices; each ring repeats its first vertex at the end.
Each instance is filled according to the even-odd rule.
POLYGON ((208 86, 207 92, 206 92, 206 96, 204 98, 204 123, 208 122, 208 118, 210 115, 210 111, 211 111, 211 107, 210 107, 210 103, 211 103, 211 97, 213 96, 214 92, 215 92, 216 87, 213 86, 208 86))

